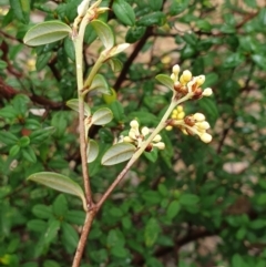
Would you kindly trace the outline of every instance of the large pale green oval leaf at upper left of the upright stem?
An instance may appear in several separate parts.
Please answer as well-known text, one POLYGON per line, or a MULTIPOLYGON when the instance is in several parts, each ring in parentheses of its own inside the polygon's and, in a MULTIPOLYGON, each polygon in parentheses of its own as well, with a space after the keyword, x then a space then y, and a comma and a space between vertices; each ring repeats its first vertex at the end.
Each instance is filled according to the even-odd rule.
POLYGON ((44 21, 32 27, 23 39, 28 45, 37 47, 59 41, 72 32, 71 28, 61 21, 44 21))

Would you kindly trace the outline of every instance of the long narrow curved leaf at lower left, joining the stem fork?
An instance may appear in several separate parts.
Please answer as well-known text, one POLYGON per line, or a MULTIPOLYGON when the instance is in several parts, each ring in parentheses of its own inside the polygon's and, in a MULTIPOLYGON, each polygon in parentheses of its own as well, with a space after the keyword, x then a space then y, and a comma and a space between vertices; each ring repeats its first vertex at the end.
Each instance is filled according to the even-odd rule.
POLYGON ((84 210, 86 210, 86 201, 82 188, 69 177, 58 173, 43 172, 32 174, 27 179, 34 181, 59 192, 79 196, 82 199, 84 210))

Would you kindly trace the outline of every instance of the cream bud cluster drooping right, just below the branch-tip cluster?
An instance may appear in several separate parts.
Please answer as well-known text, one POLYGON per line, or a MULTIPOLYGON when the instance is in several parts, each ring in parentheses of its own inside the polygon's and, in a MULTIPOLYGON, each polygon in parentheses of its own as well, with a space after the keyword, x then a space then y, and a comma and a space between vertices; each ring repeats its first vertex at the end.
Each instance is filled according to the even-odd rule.
POLYGON ((166 130, 177 126, 184 134, 198 135, 204 143, 209 143, 212 141, 212 135, 206 132, 209 129, 209 124, 202 113, 185 116, 181 107, 181 112, 177 110, 178 106, 173 111, 172 120, 170 120, 166 130))

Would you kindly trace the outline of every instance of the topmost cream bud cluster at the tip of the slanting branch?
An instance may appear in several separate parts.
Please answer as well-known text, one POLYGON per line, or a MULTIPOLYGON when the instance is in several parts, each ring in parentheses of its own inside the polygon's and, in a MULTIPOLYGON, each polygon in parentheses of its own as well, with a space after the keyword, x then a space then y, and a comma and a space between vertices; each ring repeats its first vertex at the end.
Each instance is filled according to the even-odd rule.
POLYGON ((205 82, 205 75, 193 76, 191 71, 185 70, 180 75, 180 65, 173 66, 173 73, 171 74, 171 79, 174 81, 174 90, 178 99, 183 97, 187 93, 192 96, 191 99, 197 100, 202 96, 209 96, 213 94, 213 90, 211 88, 202 90, 202 84, 205 82))

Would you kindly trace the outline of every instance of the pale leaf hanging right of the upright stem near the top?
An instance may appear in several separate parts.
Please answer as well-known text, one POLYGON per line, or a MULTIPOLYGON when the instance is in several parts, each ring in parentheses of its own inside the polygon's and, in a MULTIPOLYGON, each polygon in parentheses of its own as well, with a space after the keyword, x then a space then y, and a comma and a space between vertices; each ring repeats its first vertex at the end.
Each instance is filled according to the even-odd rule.
POLYGON ((93 29, 96 31, 98 37, 101 39, 106 50, 114 45, 114 34, 111 28, 101 20, 93 20, 91 22, 93 29))

